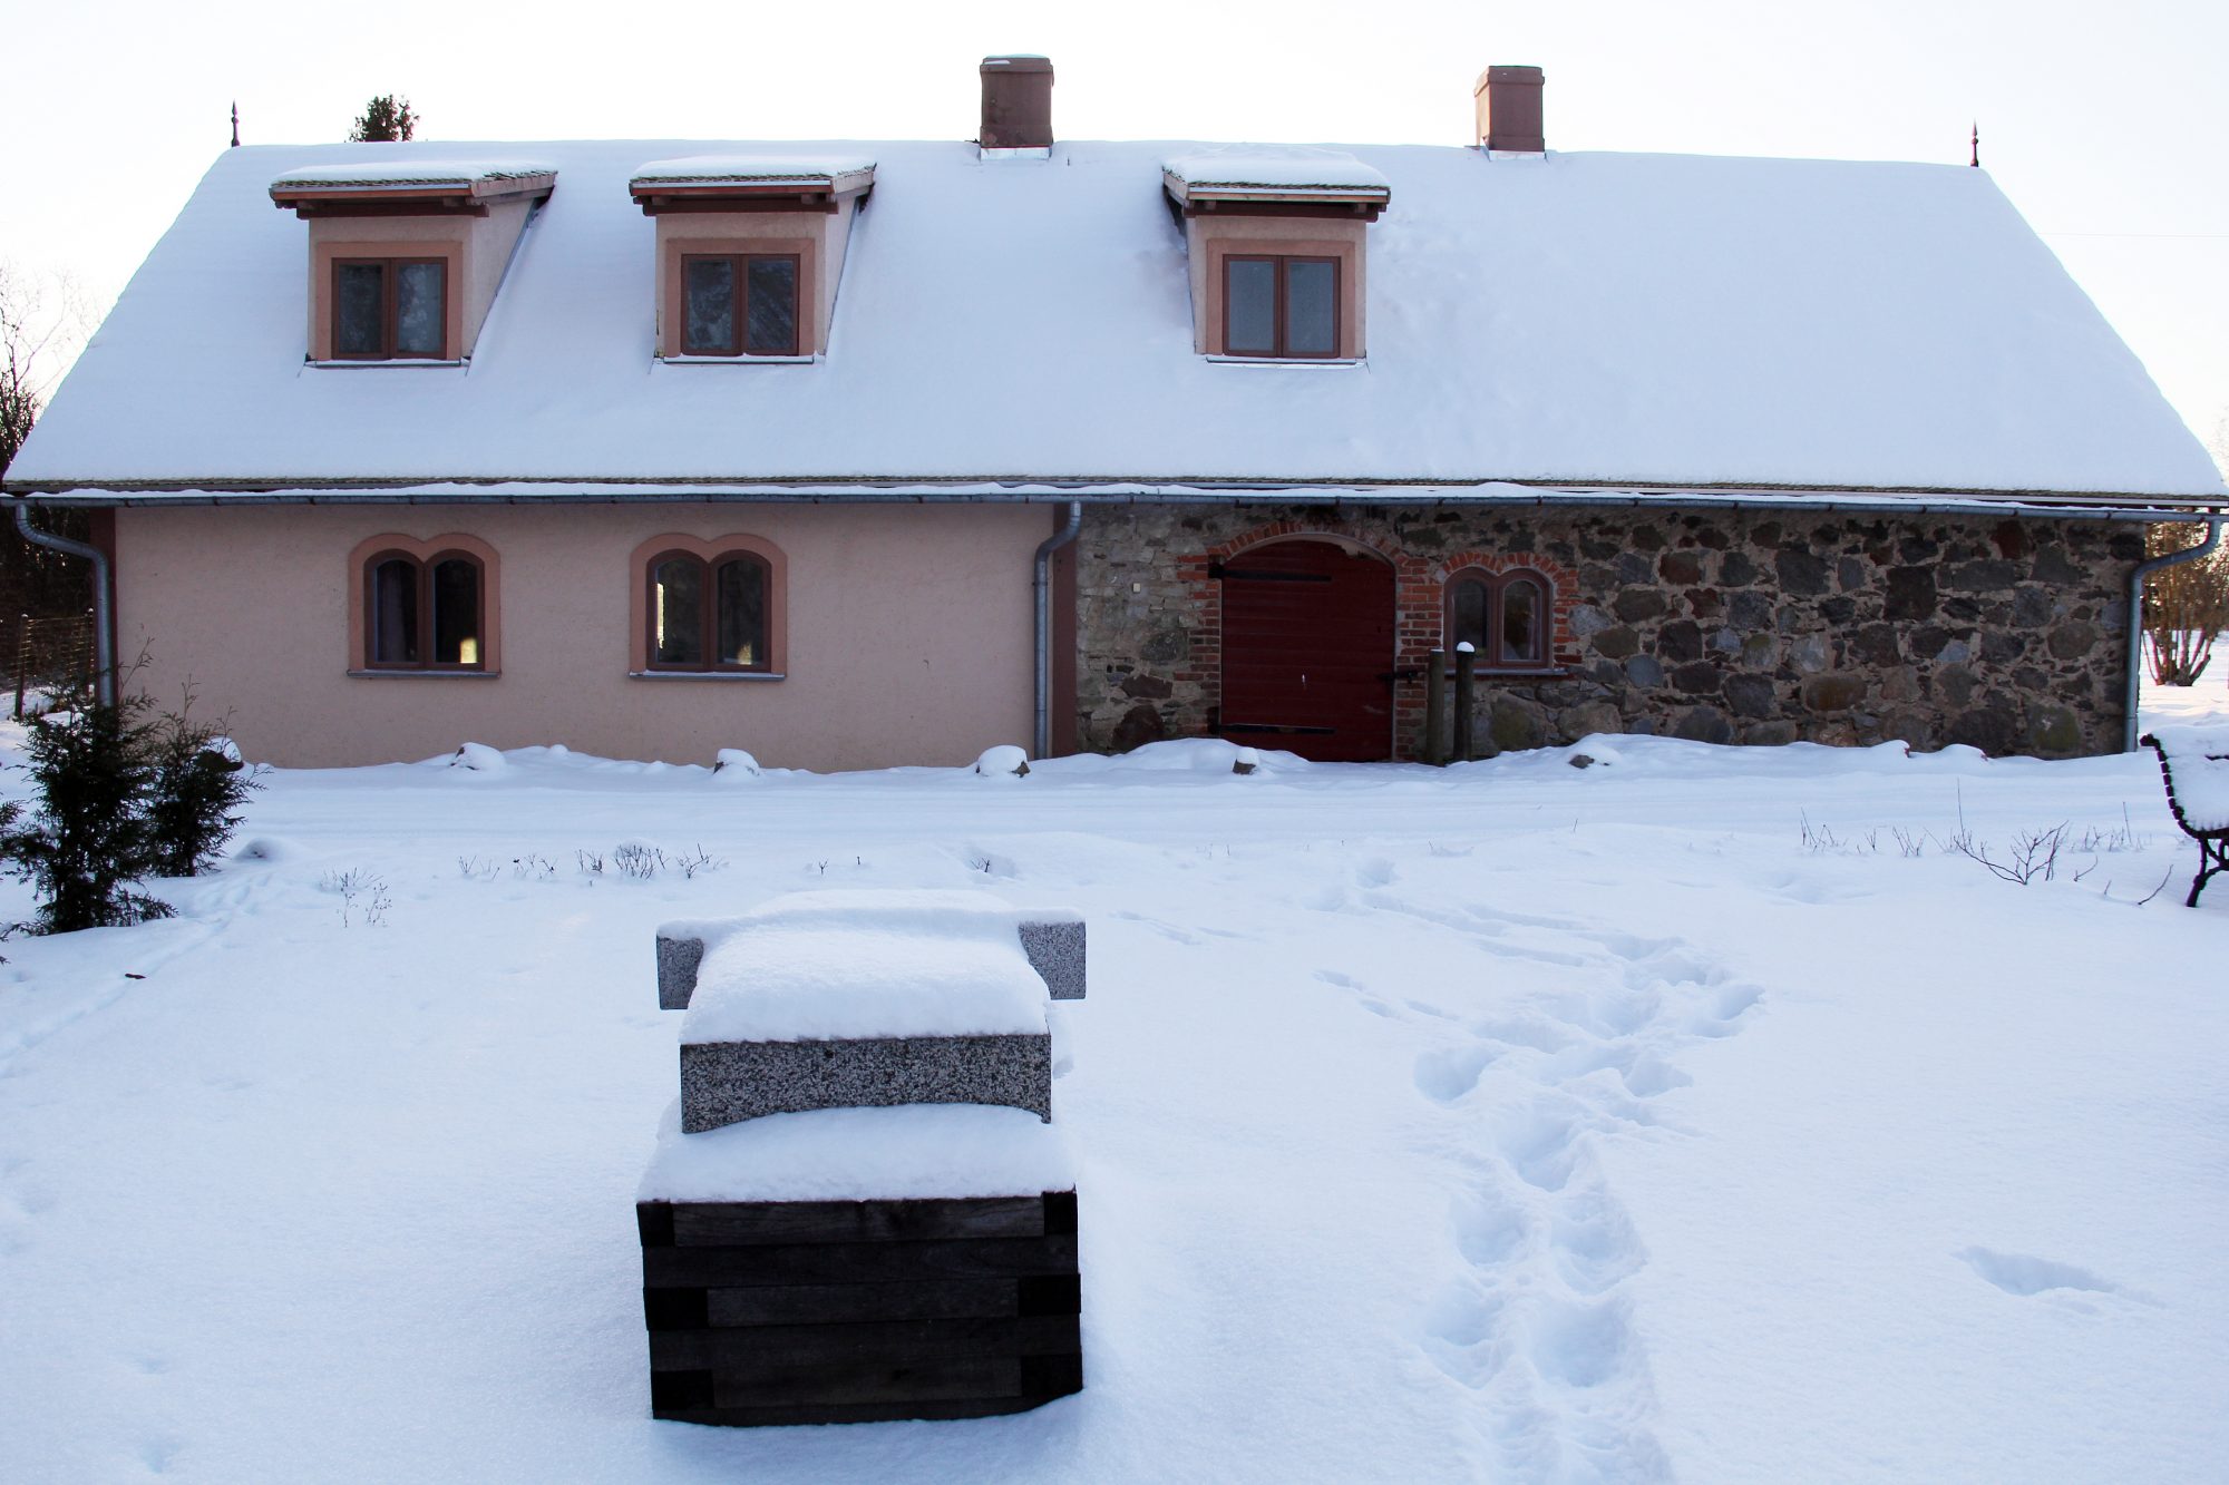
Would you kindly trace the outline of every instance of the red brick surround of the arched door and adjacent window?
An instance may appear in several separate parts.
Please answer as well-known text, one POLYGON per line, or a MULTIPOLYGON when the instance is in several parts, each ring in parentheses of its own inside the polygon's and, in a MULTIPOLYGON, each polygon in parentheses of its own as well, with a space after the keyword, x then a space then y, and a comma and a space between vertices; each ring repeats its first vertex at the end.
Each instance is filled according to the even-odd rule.
POLYGON ((1489 573, 1529 571, 1540 573, 1551 591, 1549 656, 1556 664, 1578 664, 1578 642, 1571 635, 1571 604, 1578 595, 1578 573, 1538 553, 1458 551, 1438 557, 1420 557, 1386 546, 1384 540, 1346 522, 1268 522, 1242 531, 1206 551, 1177 557, 1177 580, 1193 598, 1193 656, 1175 680, 1197 682, 1201 705, 1221 711, 1224 685, 1224 606, 1221 593, 1208 569, 1268 542, 1286 537, 1313 537, 1320 542, 1344 542, 1375 553, 1393 564, 1395 602, 1395 658, 1404 671, 1418 678, 1402 680, 1393 691, 1393 756, 1411 758, 1415 738, 1424 729, 1424 680, 1422 669, 1431 651, 1440 647, 1447 624, 1447 580, 1464 569, 1489 573))

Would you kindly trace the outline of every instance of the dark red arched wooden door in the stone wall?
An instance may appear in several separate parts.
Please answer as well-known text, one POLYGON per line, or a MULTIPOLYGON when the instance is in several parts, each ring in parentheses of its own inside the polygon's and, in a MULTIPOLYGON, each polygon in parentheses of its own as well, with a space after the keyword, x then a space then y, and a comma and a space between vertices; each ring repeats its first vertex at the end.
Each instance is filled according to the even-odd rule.
POLYGON ((1224 736, 1317 763, 1393 756, 1393 566, 1275 542, 1219 569, 1224 736))

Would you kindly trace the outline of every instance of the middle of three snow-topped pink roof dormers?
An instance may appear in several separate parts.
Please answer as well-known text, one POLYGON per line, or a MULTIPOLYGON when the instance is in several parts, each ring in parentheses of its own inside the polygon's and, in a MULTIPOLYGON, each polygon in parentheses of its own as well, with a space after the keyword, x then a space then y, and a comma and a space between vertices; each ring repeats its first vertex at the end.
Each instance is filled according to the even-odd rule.
POLYGON ((874 190, 858 156, 653 161, 626 185, 658 221, 658 357, 809 361, 827 355, 851 219, 874 190))

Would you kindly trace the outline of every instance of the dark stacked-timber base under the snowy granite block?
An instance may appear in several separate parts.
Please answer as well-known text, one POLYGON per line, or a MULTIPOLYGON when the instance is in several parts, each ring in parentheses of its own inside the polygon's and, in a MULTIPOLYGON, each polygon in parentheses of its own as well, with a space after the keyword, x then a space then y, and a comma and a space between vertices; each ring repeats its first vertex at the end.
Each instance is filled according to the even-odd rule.
POLYGON ((981 1418, 1083 1389, 1077 1197, 640 1202, 651 1416, 981 1418))

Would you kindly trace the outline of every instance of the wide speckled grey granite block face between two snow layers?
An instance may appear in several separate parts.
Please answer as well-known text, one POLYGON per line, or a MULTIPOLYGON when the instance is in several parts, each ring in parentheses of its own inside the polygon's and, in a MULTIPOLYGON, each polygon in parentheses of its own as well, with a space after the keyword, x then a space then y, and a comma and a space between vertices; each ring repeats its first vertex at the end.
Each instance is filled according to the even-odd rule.
POLYGON ((682 1133, 811 1108, 999 1104, 1052 1119, 1052 1037, 684 1041, 682 1133))

